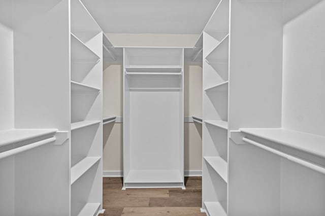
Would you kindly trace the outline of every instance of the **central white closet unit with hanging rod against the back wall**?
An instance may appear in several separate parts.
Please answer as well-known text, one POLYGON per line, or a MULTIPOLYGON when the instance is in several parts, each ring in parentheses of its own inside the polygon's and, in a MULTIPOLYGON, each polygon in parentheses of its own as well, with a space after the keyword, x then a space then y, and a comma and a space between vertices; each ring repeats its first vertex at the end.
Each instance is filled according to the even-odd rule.
POLYGON ((124 48, 123 186, 184 188, 181 48, 124 48))

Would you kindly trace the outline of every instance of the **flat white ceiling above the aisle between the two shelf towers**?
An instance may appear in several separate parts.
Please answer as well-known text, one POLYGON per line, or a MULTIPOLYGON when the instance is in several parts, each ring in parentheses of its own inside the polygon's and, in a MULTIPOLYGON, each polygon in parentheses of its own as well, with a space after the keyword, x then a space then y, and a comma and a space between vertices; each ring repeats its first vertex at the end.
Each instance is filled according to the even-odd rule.
POLYGON ((218 0, 82 0, 107 33, 198 34, 218 0))

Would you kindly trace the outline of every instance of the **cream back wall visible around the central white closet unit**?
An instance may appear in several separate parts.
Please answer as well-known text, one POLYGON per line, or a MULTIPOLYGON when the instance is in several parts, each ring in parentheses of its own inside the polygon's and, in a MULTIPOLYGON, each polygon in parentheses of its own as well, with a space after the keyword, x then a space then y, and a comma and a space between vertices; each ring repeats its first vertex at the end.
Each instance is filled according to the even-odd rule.
MULTIPOLYGON (((107 34, 115 46, 193 47, 195 34, 107 34)), ((184 66, 184 116, 202 116, 202 65, 184 66)), ((104 116, 123 115, 122 62, 104 65, 104 116)), ((123 124, 104 125, 104 176, 121 176, 123 170, 123 124)), ((200 175, 202 125, 184 123, 185 175, 200 175)))

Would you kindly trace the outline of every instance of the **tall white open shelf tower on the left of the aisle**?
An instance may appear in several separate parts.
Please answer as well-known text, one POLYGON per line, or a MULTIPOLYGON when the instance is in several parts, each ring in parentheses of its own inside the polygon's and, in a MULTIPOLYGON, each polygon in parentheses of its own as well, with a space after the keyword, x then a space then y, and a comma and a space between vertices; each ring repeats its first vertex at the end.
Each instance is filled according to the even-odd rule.
POLYGON ((72 216, 103 208, 103 37, 80 0, 71 0, 72 216))

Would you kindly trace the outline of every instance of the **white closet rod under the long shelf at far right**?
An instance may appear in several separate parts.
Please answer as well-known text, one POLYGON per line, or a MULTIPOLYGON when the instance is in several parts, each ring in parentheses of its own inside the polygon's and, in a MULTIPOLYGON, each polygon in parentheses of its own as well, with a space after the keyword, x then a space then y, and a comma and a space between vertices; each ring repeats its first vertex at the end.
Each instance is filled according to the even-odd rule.
POLYGON ((305 160, 302 160, 302 159, 299 159, 299 158, 296 158, 296 157, 290 156, 290 155, 285 154, 285 153, 283 153, 283 152, 280 152, 280 151, 278 151, 278 150, 275 150, 275 149, 272 149, 272 148, 270 148, 270 147, 264 146, 264 145, 262 145, 261 143, 255 142, 255 141, 253 141, 253 140, 251 140, 251 139, 248 139, 248 138, 246 138, 246 137, 243 137, 243 141, 248 142, 248 143, 250 143, 250 144, 252 144, 252 145, 254 145, 254 146, 256 146, 256 147, 259 147, 259 148, 261 148, 261 149, 264 149, 264 150, 266 150, 266 151, 272 152, 273 154, 279 155, 279 156, 281 156, 281 157, 283 157, 283 158, 285 158, 285 159, 287 159, 287 160, 289 160, 289 161, 296 162, 296 163, 298 163, 298 164, 300 164, 300 165, 302 165, 302 166, 305 166, 305 167, 307 167, 307 168, 310 168, 310 169, 313 169, 313 170, 315 170, 315 171, 317 171, 317 172, 320 172, 320 173, 325 174, 325 168, 323 168, 323 167, 321 167, 321 166, 318 166, 318 165, 312 164, 312 163, 307 162, 307 161, 305 161, 305 160))

